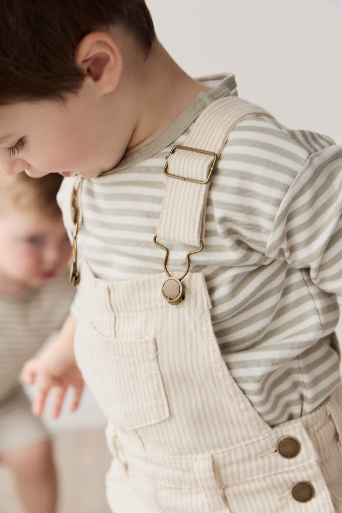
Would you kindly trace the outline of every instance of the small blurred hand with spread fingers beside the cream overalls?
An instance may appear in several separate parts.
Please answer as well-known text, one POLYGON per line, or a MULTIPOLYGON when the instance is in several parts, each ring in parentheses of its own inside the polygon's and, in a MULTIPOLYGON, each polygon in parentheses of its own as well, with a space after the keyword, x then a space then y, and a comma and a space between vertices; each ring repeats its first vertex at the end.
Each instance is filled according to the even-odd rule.
POLYGON ((84 381, 79 371, 72 348, 68 348, 57 338, 36 358, 32 358, 23 367, 21 378, 27 385, 32 385, 38 378, 38 390, 32 402, 32 412, 42 415, 47 396, 52 387, 56 388, 50 416, 56 419, 67 393, 68 387, 74 388, 73 399, 69 406, 75 411, 81 400, 84 381))

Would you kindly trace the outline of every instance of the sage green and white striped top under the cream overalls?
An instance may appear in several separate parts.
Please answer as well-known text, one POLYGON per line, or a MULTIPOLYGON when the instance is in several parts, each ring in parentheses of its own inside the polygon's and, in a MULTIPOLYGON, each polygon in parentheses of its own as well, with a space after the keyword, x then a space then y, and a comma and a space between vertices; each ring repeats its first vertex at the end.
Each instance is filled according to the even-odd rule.
MULTIPOLYGON (((165 158, 184 144, 206 97, 229 94, 237 94, 233 75, 155 141, 84 180, 78 245, 98 278, 163 271, 153 236, 165 158)), ((74 180, 65 179, 58 196, 69 232, 74 180)), ((331 334, 342 295, 341 212, 342 149, 330 137, 262 115, 233 129, 212 176, 205 249, 191 270, 205 275, 222 358, 270 425, 306 415, 340 381, 331 334)), ((182 270, 189 248, 169 249, 169 270, 182 270)), ((77 301, 72 312, 77 317, 77 301)))

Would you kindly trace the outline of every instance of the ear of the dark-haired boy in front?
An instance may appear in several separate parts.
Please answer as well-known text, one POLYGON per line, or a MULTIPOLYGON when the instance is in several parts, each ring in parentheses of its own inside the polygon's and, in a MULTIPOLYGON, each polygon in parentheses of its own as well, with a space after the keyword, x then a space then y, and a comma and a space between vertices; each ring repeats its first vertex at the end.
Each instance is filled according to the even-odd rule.
POLYGON ((119 47, 106 32, 87 34, 76 49, 74 62, 104 94, 116 88, 124 67, 119 47))

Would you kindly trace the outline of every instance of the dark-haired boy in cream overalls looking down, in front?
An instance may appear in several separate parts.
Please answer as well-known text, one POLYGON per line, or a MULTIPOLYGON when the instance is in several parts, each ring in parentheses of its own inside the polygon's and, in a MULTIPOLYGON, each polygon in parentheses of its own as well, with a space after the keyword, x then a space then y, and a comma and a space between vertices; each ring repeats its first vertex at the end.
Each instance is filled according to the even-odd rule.
POLYGON ((112 511, 342 511, 341 148, 190 78, 142 0, 0 6, 0 168, 72 175, 84 257, 36 411, 75 339, 112 511))

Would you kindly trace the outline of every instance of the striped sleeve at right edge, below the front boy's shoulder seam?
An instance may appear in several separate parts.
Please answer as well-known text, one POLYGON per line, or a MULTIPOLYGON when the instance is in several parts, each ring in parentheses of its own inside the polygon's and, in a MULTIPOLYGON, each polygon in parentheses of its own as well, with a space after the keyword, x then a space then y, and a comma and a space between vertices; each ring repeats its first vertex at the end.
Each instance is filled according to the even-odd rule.
POLYGON ((342 296, 342 148, 309 156, 276 213, 266 255, 308 268, 319 288, 342 296))

